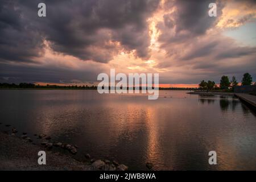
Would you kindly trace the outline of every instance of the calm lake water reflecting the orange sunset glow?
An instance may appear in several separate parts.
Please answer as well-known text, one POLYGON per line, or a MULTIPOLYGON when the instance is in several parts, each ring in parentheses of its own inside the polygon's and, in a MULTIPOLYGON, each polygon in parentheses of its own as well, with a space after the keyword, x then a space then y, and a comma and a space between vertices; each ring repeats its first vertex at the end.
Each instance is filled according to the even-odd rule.
POLYGON ((77 144, 75 158, 89 153, 129 169, 146 170, 150 162, 155 170, 255 170, 255 113, 237 98, 186 92, 160 91, 158 100, 147 100, 97 90, 0 90, 0 122, 18 135, 77 144), (212 150, 215 166, 208 163, 212 150))

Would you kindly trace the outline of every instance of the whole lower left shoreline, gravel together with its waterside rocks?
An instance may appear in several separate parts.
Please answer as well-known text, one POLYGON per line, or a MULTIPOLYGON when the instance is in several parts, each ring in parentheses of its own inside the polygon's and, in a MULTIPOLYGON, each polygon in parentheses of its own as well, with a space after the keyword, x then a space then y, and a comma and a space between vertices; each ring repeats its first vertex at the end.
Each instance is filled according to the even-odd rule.
MULTIPOLYGON (((3 123, 0 123, 3 125, 3 123)), ((92 159, 85 154, 82 162, 73 159, 62 152, 53 152, 54 147, 68 150, 76 155, 78 146, 71 143, 53 142, 45 134, 34 134, 40 144, 36 144, 27 133, 18 134, 18 130, 11 125, 5 125, 4 132, 0 132, 0 170, 83 170, 83 171, 126 171, 124 164, 113 160, 92 159), (38 164, 38 152, 45 151, 46 165, 38 164)))

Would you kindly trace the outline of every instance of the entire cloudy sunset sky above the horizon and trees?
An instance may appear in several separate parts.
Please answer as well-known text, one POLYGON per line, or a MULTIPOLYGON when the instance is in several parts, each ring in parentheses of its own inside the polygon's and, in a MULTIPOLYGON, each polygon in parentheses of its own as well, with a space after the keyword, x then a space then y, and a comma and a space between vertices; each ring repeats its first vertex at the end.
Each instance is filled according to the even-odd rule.
POLYGON ((255 81, 255 32, 252 0, 2 0, 0 82, 97 85, 111 68, 159 73, 171 87, 246 72, 255 81))

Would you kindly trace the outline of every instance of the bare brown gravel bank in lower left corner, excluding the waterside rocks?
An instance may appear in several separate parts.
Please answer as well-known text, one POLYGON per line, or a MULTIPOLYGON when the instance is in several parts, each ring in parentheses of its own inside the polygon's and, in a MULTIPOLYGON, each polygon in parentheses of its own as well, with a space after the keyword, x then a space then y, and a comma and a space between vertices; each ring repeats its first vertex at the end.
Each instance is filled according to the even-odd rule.
POLYGON ((70 156, 55 154, 21 138, 0 132, 0 170, 85 170, 92 167, 70 156), (38 152, 46 152, 46 165, 38 164, 38 152))

